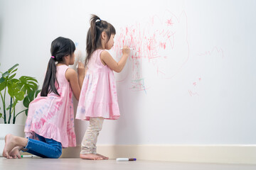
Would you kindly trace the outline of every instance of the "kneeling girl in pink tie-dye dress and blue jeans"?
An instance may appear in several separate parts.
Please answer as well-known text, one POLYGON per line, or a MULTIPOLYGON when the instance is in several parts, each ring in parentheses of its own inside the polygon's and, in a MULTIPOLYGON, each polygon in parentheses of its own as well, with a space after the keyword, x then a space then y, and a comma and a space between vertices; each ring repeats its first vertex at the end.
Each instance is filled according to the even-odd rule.
POLYGON ((50 48, 42 91, 28 107, 26 137, 6 135, 3 156, 21 158, 19 150, 44 158, 58 158, 63 147, 75 147, 72 94, 78 100, 85 68, 79 64, 78 74, 68 65, 75 61, 75 44, 68 38, 56 38, 50 48), (73 93, 72 93, 73 92, 73 93))

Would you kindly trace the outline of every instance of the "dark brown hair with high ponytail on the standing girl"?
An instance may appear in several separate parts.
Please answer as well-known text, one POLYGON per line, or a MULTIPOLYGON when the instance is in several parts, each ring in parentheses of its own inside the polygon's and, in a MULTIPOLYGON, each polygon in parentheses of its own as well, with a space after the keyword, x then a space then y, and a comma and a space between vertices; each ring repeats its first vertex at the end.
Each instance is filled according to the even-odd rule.
POLYGON ((87 56, 85 59, 85 65, 88 64, 92 52, 102 47, 100 37, 103 31, 107 33, 107 41, 110 40, 110 36, 112 34, 116 33, 114 26, 112 26, 111 23, 101 20, 98 16, 92 15, 90 18, 90 28, 87 32, 86 38, 87 56))

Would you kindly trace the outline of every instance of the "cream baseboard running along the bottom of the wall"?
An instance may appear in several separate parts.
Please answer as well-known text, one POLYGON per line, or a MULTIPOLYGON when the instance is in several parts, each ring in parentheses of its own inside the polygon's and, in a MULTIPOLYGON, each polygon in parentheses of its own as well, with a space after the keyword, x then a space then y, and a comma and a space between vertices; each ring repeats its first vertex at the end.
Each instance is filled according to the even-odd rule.
MULTIPOLYGON (((97 153, 110 159, 256 164, 256 145, 98 145, 97 153)), ((80 146, 63 149, 62 157, 79 157, 80 146)))

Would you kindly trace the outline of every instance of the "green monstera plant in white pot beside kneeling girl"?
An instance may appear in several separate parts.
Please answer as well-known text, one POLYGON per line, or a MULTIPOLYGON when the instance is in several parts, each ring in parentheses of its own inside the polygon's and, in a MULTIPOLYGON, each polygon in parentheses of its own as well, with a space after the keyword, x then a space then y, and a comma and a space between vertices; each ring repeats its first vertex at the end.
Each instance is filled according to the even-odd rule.
POLYGON ((28 114, 28 105, 33 98, 39 93, 38 81, 33 77, 21 76, 16 79, 16 72, 18 64, 8 69, 6 72, 1 72, 0 78, 0 118, 4 120, 0 124, 0 156, 4 147, 4 137, 6 134, 11 133, 17 136, 24 136, 24 125, 17 125, 16 118, 21 113, 28 114), (10 100, 7 100, 10 99, 10 100), (25 109, 16 111, 18 102, 23 101, 25 109))

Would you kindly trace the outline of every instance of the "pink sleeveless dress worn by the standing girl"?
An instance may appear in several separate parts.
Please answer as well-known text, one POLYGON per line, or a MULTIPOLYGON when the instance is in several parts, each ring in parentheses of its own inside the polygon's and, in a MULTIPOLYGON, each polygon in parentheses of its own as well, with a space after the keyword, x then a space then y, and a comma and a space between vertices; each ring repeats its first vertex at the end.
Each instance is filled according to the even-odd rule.
POLYGON ((102 117, 115 120, 119 118, 114 72, 107 65, 102 64, 100 60, 102 51, 93 52, 87 64, 88 69, 75 117, 77 119, 90 120, 90 118, 102 117))

